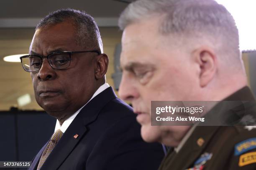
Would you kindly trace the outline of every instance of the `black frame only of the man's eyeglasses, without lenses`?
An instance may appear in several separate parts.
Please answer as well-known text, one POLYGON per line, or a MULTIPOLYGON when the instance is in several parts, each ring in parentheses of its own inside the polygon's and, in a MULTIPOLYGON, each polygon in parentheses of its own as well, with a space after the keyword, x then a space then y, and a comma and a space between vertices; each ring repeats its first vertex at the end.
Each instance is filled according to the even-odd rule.
MULTIPOLYGON (((71 55, 72 55, 72 54, 77 54, 77 53, 83 53, 83 52, 96 52, 98 55, 101 54, 101 52, 99 52, 98 50, 88 50, 88 51, 57 51, 57 52, 53 52, 53 53, 51 53, 51 54, 49 54, 49 55, 47 55, 47 56, 40 56, 40 55, 23 55, 23 56, 20 57, 20 62, 21 62, 21 65, 22 65, 22 67, 23 67, 23 63, 22 63, 22 59, 23 59, 23 58, 27 58, 27 57, 30 57, 30 56, 40 57, 40 58, 41 58, 41 65, 40 65, 40 67, 38 68, 38 70, 40 70, 41 67, 42 67, 42 64, 43 64, 43 58, 44 58, 44 57, 47 58, 48 63, 51 65, 51 63, 49 62, 49 56, 54 55, 54 54, 58 54, 58 53, 68 53, 68 54, 69 54, 69 65, 68 65, 67 67, 69 67, 69 66, 70 66, 70 63, 71 63, 71 55)), ((51 68, 56 69, 56 70, 64 70, 64 69, 67 69, 67 67, 59 69, 59 68, 54 68, 54 66, 51 65, 51 68)), ((25 70, 24 67, 23 67, 23 70, 25 70)), ((36 70, 36 71, 27 71, 27 70, 25 70, 25 71, 26 71, 26 72, 37 72, 38 70, 36 70)))

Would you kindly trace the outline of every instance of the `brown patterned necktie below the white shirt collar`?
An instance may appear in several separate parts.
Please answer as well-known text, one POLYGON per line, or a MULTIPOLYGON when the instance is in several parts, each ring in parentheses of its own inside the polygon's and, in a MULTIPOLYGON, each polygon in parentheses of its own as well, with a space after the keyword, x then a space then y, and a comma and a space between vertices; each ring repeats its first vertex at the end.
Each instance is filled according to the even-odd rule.
POLYGON ((54 149, 56 144, 59 142, 61 136, 63 135, 63 132, 61 130, 57 130, 51 137, 51 140, 47 144, 47 146, 44 148, 44 152, 41 155, 40 161, 38 163, 37 170, 40 170, 42 165, 44 164, 47 157, 50 155, 51 151, 54 149))

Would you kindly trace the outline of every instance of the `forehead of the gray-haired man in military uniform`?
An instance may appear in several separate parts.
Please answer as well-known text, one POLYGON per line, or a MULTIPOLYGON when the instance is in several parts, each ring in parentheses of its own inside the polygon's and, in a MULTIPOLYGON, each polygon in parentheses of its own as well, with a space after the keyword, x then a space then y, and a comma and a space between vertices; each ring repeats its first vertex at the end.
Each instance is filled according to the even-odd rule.
POLYGON ((159 32, 158 18, 128 25, 123 31, 121 66, 131 62, 152 62, 175 52, 176 37, 159 32))

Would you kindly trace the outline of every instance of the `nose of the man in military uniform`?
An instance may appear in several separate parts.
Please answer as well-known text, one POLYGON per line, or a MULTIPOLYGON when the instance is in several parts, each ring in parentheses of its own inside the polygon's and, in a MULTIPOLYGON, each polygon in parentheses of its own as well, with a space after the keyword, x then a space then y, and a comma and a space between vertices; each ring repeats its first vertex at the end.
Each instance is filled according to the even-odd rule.
POLYGON ((118 95, 121 99, 131 102, 133 101, 133 99, 138 97, 138 92, 136 90, 135 84, 133 83, 133 80, 125 74, 122 75, 122 79, 118 89, 118 95))

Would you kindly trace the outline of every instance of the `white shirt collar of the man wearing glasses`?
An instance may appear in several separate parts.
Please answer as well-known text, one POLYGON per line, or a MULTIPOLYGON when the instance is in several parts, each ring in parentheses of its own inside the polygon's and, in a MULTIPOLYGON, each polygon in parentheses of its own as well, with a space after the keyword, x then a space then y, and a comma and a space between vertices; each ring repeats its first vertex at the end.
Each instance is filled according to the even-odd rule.
MULTIPOLYGON (((104 85, 101 85, 101 86, 98 88, 98 90, 92 95, 92 98, 91 98, 88 102, 90 102, 95 96, 97 96, 98 94, 100 94, 102 91, 106 90, 108 87, 110 87, 110 86, 108 85, 108 83, 105 83, 104 85)), ((88 103, 88 102, 87 102, 87 103, 88 103)), ((86 103, 85 105, 87 105, 87 103, 86 103)), ((85 106, 85 105, 84 105, 84 106, 85 106)), ((60 125, 59 120, 57 119, 54 132, 56 132, 58 129, 60 129, 61 132, 65 133, 65 131, 67 130, 67 128, 69 127, 69 125, 72 123, 72 121, 74 120, 74 118, 77 116, 77 114, 82 110, 82 108, 83 108, 84 106, 82 106, 79 110, 77 110, 77 112, 75 112, 72 116, 70 116, 67 120, 65 120, 62 125, 60 125)))

